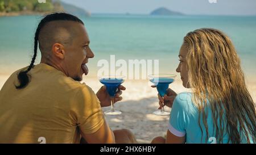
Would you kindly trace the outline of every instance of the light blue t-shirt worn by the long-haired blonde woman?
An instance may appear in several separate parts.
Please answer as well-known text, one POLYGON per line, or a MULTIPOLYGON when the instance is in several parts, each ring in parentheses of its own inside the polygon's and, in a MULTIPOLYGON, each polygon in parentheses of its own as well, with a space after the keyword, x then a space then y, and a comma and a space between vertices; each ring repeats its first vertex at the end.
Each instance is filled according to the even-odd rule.
MULTIPOLYGON (((212 110, 210 106, 205 107, 205 112, 208 112, 207 124, 209 136, 207 139, 207 130, 204 127, 203 117, 200 117, 200 124, 203 130, 203 135, 199 126, 199 110, 192 102, 192 93, 180 93, 174 100, 168 124, 168 130, 178 137, 186 136, 186 143, 219 143, 220 140, 216 137, 216 130, 212 118, 212 110)), ((219 121, 219 120, 218 120, 219 121)), ((226 131, 226 123, 223 122, 224 137, 222 143, 228 143, 229 135, 226 131)), ((244 134, 241 135, 242 143, 247 143, 244 134)), ((251 140, 251 143, 253 141, 251 140)))

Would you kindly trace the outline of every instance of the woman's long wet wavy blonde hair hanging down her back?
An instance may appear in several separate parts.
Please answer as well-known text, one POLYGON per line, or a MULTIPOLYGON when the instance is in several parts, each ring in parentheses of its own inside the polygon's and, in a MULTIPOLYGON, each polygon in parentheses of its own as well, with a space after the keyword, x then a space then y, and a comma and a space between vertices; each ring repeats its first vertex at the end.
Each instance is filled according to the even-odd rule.
POLYGON ((200 118, 203 117, 207 139, 205 106, 208 100, 218 143, 222 143, 225 128, 229 143, 241 143, 241 134, 245 135, 247 143, 250 143, 249 135, 255 143, 255 104, 246 88, 240 58, 232 41, 219 30, 201 28, 189 32, 184 37, 184 45, 188 49, 188 81, 195 92, 193 100, 200 118))

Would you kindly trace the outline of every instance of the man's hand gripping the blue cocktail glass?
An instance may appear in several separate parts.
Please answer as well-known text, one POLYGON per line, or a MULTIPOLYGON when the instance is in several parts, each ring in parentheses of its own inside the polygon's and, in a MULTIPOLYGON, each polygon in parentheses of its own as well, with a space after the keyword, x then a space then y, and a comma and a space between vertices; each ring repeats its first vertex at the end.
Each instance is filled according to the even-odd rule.
MULTIPOLYGON (((126 87, 122 85, 118 87, 117 94, 115 94, 115 97, 114 97, 114 103, 123 99, 122 97, 120 97, 120 95, 122 95, 122 90, 125 90, 125 89, 126 87)), ((106 86, 102 86, 100 90, 98 90, 96 95, 101 102, 101 107, 108 107, 111 105, 111 99, 108 91, 106 90, 106 86)))

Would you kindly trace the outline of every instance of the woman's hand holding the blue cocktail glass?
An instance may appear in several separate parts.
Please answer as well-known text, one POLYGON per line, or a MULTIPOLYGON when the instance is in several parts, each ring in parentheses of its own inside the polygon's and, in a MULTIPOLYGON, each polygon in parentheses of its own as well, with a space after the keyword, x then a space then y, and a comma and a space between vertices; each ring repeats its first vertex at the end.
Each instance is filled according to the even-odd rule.
MULTIPOLYGON (((156 86, 153 85, 151 87, 155 88, 156 86)), ((162 107, 164 107, 164 106, 171 108, 176 96, 177 96, 177 94, 175 93, 175 91, 171 90, 170 88, 168 88, 167 94, 164 95, 164 97, 161 97, 160 94, 158 93, 158 99, 159 99, 159 108, 158 109, 162 109, 162 107)))

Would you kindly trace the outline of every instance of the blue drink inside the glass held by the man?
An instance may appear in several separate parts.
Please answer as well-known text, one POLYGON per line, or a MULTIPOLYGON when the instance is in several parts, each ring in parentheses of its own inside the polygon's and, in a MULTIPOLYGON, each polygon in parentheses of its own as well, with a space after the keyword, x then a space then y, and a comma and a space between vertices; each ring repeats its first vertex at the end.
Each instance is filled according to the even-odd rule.
POLYGON ((114 97, 117 93, 118 86, 123 83, 123 79, 118 78, 102 78, 100 82, 106 86, 106 89, 110 95, 110 97, 114 97))

